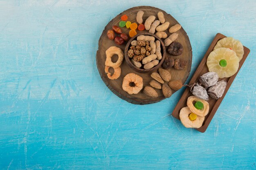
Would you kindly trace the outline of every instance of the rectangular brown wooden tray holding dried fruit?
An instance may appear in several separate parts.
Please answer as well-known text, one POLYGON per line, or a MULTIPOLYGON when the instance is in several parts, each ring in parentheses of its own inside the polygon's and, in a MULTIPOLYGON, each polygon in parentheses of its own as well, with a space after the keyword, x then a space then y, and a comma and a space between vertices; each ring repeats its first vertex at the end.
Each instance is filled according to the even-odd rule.
MULTIPOLYGON (((195 83, 195 82, 198 82, 198 79, 201 75, 203 75, 204 73, 207 73, 209 72, 208 71, 208 67, 207 67, 207 57, 209 56, 209 54, 211 53, 211 51, 213 51, 213 48, 214 46, 216 45, 216 43, 218 42, 218 40, 222 39, 222 38, 225 38, 226 36, 225 35, 222 35, 221 33, 217 33, 215 38, 213 39, 211 45, 209 46, 209 49, 207 50, 207 52, 205 53, 204 55, 204 58, 202 59, 201 63, 199 64, 198 68, 196 69, 193 77, 191 78, 190 82, 189 82, 189 85, 195 83)), ((244 55, 243 55, 243 58, 242 60, 240 60, 239 62, 239 67, 238 67, 238 71, 240 70, 240 68, 242 67, 243 63, 245 62, 245 59, 247 58, 248 54, 250 53, 250 50, 244 46, 244 55)), ((220 103, 222 102, 223 98, 225 97, 227 91, 229 90, 229 87, 231 86, 232 82, 234 81, 236 75, 238 74, 238 71, 236 72, 236 74, 232 75, 231 77, 229 78, 222 78, 224 80, 227 81, 227 86, 225 88, 225 92, 224 94, 222 95, 222 97, 220 97, 218 100, 216 99, 213 99, 211 97, 209 97, 209 113, 208 115, 205 116, 205 119, 204 119, 204 123, 203 125, 196 129, 200 132, 205 132, 205 130, 207 129, 207 127, 209 126, 210 122, 211 122, 211 119, 213 118, 213 116, 215 115, 216 111, 218 110, 219 106, 220 106, 220 103)), ((222 80, 222 79, 219 79, 222 80)), ((179 102, 177 103, 177 105, 175 106, 174 110, 173 110, 173 117, 177 118, 177 119, 180 119, 180 116, 179 116, 179 113, 180 113, 180 110, 183 108, 183 107, 186 107, 186 102, 187 102, 187 98, 189 96, 192 96, 193 94, 190 92, 190 88, 187 87, 186 90, 184 91, 182 97, 180 98, 179 102)))

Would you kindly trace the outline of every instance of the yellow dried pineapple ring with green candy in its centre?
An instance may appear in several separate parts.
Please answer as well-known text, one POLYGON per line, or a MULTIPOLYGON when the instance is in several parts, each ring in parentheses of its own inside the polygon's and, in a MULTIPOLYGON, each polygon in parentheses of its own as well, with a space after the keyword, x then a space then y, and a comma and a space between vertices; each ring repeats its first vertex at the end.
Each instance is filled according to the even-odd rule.
POLYGON ((235 51, 228 48, 218 48, 213 50, 207 58, 209 71, 216 72, 219 78, 231 77, 239 67, 239 58, 235 51), (226 60, 226 66, 220 66, 220 60, 226 60))

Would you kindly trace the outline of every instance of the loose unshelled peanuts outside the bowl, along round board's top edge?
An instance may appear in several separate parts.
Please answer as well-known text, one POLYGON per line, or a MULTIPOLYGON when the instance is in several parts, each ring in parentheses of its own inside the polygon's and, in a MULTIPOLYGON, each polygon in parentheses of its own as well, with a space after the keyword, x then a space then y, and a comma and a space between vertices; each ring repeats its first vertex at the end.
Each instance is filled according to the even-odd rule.
MULTIPOLYGON (((138 23, 143 22, 143 14, 143 11, 138 11, 136 18, 138 23)), ((162 13, 161 11, 157 13, 157 17, 159 20, 155 20, 156 17, 154 15, 150 15, 144 23, 145 29, 148 30, 149 33, 153 33, 157 35, 157 37, 165 39, 164 45, 168 46, 177 39, 178 33, 176 33, 176 31, 181 29, 181 25, 175 24, 174 26, 171 26, 168 30, 168 32, 171 33, 171 35, 169 35, 168 37, 167 33, 164 31, 168 29, 170 23, 165 21, 164 13, 162 13), (161 25, 159 25, 160 23, 161 25)))

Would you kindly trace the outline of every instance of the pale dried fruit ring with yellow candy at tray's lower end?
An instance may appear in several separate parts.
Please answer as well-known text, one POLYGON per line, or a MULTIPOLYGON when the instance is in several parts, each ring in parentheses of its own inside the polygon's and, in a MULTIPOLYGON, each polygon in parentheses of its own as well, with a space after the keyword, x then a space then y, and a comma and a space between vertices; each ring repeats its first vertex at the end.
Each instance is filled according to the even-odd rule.
POLYGON ((189 119, 189 114, 191 114, 189 107, 184 107, 180 110, 180 121, 186 128, 200 128, 204 122, 204 117, 197 116, 195 120, 191 121, 189 119))

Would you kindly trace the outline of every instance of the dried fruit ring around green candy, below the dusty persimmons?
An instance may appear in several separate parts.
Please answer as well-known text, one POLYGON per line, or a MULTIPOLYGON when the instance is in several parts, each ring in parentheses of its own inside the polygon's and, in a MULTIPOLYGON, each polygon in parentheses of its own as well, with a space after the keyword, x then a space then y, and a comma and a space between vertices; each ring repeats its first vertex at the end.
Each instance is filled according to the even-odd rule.
POLYGON ((205 100, 199 99, 199 98, 197 98, 195 96, 190 96, 188 98, 186 104, 188 105, 188 107, 191 110, 191 112, 195 113, 198 116, 203 116, 204 117, 209 112, 209 103, 206 102, 205 100), (195 102, 202 102, 204 107, 201 110, 195 108, 195 106, 193 105, 193 101, 195 101, 195 102))

